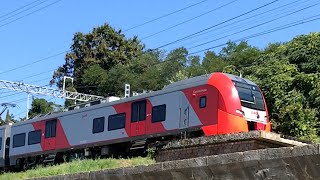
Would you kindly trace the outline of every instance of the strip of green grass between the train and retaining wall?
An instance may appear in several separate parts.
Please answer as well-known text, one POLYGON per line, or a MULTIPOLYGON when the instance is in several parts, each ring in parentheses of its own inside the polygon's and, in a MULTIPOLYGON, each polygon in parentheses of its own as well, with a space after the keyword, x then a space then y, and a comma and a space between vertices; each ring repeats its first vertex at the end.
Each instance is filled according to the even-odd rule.
POLYGON ((4 173, 0 175, 0 180, 11 179, 27 179, 44 176, 54 176, 60 174, 72 174, 87 171, 97 171, 103 169, 114 169, 119 167, 129 167, 138 165, 149 165, 155 161, 150 158, 136 157, 132 159, 86 159, 75 160, 70 163, 64 163, 61 165, 37 167, 25 172, 18 173, 4 173))

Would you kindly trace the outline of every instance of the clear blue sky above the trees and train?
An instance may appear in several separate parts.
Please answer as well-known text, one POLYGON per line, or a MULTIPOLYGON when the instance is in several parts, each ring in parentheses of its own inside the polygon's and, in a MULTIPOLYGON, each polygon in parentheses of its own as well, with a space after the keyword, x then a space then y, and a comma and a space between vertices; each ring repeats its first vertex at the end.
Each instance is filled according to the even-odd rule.
MULTIPOLYGON (((200 33, 201 36, 161 48, 170 52, 184 46, 189 53, 203 56, 204 52, 197 51, 319 15, 318 4, 318 0, 2 1, 0 80, 48 85, 53 71, 64 63, 64 52, 70 49, 73 35, 89 33, 104 23, 121 29, 127 38, 138 36, 150 49, 208 29, 205 34, 200 33), (164 15, 167 16, 159 18, 164 15), (158 19, 141 25, 155 18, 158 19), (211 43, 194 47, 210 40, 211 43), (51 56, 54 57, 47 58, 51 56)), ((269 43, 287 42, 297 35, 319 32, 319 22, 316 20, 247 41, 263 49, 269 43)), ((221 47, 211 50, 219 52, 221 47)), ((59 98, 34 97, 63 103, 59 98)), ((25 117, 26 100, 26 93, 0 89, 0 103, 17 105, 9 108, 16 119, 25 117)))

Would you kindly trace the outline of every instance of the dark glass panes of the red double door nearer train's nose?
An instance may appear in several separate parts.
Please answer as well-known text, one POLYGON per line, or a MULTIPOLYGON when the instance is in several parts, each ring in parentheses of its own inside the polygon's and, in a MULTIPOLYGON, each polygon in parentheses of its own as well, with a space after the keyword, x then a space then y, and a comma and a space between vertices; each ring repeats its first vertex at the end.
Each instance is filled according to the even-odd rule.
POLYGON ((146 119, 146 100, 132 103, 131 106, 131 122, 143 121, 146 119))

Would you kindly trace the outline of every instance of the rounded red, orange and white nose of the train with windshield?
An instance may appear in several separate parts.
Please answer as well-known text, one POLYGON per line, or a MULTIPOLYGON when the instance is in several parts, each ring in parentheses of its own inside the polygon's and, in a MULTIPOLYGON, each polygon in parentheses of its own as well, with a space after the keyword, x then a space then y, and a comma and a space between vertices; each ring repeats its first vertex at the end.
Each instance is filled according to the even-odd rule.
MULTIPOLYGON (((255 83, 231 74, 213 73, 208 84, 219 93, 217 134, 271 131, 267 106, 255 83)), ((206 128, 203 131, 211 135, 206 128)))

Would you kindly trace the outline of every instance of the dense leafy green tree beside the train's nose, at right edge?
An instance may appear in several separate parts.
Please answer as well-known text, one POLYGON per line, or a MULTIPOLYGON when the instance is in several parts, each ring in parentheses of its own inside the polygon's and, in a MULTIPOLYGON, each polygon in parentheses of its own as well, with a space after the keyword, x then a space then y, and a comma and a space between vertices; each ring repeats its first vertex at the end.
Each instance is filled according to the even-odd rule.
MULTIPOLYGON (((304 37, 308 38, 310 37, 304 37)), ((313 58, 293 61, 293 57, 305 57, 306 51, 301 49, 308 45, 301 46, 302 44, 305 42, 297 39, 283 44, 270 44, 252 66, 242 70, 264 92, 276 132, 315 139, 319 133, 320 78, 317 70, 307 71, 301 68, 302 62, 308 63, 313 58), (288 54, 288 49, 293 44, 297 47, 296 52, 291 51, 294 55, 288 54)), ((314 48, 307 51, 318 56, 317 46, 314 48)))

